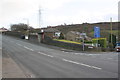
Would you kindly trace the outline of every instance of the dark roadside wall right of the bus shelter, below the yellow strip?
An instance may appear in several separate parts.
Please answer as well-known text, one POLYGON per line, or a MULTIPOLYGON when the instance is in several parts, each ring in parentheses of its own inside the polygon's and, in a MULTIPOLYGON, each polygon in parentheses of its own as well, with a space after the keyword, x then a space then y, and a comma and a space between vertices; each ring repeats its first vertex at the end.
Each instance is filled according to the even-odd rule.
MULTIPOLYGON (((45 36, 45 39, 43 41, 45 44, 49 45, 54 45, 58 47, 63 47, 66 49, 71 49, 71 50, 78 50, 78 51, 83 51, 83 46, 80 44, 73 44, 73 43, 65 43, 65 42, 60 42, 60 41, 55 41, 52 40, 51 38, 45 36)), ((88 48, 88 46, 85 46, 85 51, 101 51, 101 48, 88 48)))

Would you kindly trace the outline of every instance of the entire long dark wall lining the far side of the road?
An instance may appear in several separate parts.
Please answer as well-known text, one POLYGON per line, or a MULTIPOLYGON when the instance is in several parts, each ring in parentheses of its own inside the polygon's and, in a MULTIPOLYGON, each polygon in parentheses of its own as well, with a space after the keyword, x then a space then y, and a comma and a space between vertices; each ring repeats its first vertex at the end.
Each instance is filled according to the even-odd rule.
MULTIPOLYGON (((9 36, 14 36, 14 37, 18 37, 20 38, 20 36, 22 35, 22 33, 19 32, 6 32, 4 33, 5 35, 9 35, 9 36)), ((40 42, 38 41, 38 36, 37 35, 30 35, 29 36, 29 40, 32 43, 35 44, 39 44, 40 42)), ((53 45, 53 46, 58 46, 58 47, 63 47, 66 49, 71 49, 71 50, 78 50, 78 51, 83 51, 83 46, 80 44, 73 44, 73 43, 65 43, 65 42, 60 42, 60 41, 55 41, 52 40, 50 37, 45 36, 44 40, 41 41, 44 44, 48 44, 48 45, 53 45)), ((103 48, 88 48, 88 46, 85 46, 85 51, 110 51, 109 49, 103 49, 103 48)))

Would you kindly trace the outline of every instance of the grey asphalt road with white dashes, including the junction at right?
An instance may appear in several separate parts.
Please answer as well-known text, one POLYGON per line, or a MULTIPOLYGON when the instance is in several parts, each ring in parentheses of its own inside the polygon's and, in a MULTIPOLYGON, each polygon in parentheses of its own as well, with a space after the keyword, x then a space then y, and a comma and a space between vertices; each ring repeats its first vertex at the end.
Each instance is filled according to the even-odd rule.
POLYGON ((7 53, 30 77, 35 78, 117 78, 118 54, 82 53, 52 49, 8 36, 2 37, 7 53))

